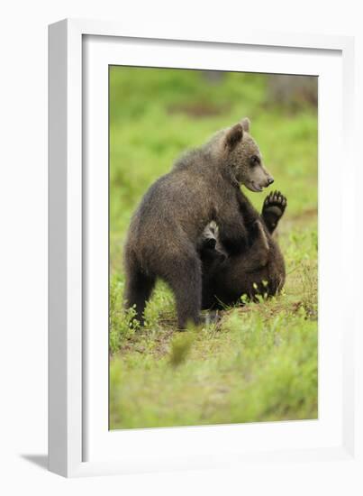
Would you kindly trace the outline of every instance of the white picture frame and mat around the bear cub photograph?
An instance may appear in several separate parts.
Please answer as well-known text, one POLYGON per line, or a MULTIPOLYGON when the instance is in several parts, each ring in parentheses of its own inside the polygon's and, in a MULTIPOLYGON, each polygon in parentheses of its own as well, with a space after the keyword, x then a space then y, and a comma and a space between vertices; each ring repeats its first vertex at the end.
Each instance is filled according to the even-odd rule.
POLYGON ((336 280, 341 287, 355 284, 349 271, 349 260, 357 256, 355 243, 342 243, 353 240, 347 234, 355 231, 357 220, 351 215, 349 188, 355 168, 347 168, 343 184, 338 175, 343 150, 345 160, 354 163, 353 49, 349 37, 252 31, 229 37, 204 31, 201 36, 187 29, 170 33, 168 27, 133 32, 118 23, 78 20, 50 25, 50 471, 81 476, 312 458, 360 464, 358 321, 343 311, 349 294, 334 291, 336 280), (108 143, 104 70, 114 63, 321 77, 318 421, 108 432, 108 355, 103 354, 108 341, 108 175, 100 164, 108 143), (329 170, 322 167, 328 163, 329 170))

